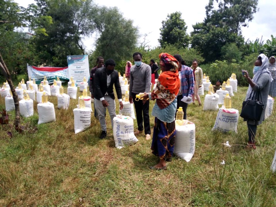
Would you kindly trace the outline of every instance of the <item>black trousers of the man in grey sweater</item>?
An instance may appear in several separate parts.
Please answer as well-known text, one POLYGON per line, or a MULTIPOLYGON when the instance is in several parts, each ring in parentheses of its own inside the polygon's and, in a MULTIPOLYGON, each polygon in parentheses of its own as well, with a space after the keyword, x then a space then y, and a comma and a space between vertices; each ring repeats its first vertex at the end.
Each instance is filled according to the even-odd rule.
POLYGON ((139 101, 135 101, 136 95, 137 93, 132 93, 132 99, 133 99, 135 112, 136 112, 138 130, 143 131, 143 120, 144 120, 145 134, 150 134, 150 116, 149 116, 150 101, 147 101, 145 104, 143 104, 143 101, 140 99, 139 101))

